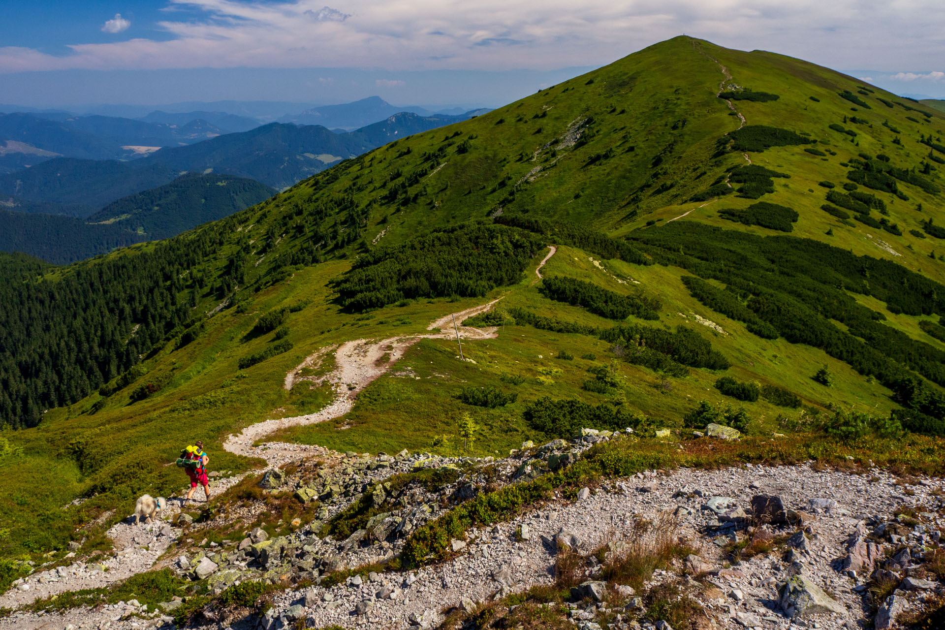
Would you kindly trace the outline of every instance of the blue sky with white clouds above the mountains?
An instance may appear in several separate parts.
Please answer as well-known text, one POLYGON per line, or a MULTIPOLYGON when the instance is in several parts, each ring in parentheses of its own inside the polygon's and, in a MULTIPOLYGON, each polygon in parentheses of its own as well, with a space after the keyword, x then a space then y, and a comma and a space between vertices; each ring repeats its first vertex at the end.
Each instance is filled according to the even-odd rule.
POLYGON ((683 33, 945 98, 942 0, 9 0, 0 102, 495 107, 683 33))

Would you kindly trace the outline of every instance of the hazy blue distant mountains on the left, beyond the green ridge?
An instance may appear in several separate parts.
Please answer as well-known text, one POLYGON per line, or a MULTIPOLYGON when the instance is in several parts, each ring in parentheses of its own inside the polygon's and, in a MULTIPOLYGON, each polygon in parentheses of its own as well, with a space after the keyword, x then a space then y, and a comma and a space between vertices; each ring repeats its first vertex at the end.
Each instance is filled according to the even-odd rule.
MULTIPOLYGON (((326 119, 350 122, 392 107, 379 98, 366 101, 348 118, 335 109, 326 119)), ((336 162, 480 112, 398 111, 341 133, 320 125, 255 126, 218 111, 152 111, 146 120, 0 114, 6 228, 0 250, 61 264, 167 238, 259 203, 336 162), (250 128, 223 133, 206 120, 186 120, 195 114, 250 128)))

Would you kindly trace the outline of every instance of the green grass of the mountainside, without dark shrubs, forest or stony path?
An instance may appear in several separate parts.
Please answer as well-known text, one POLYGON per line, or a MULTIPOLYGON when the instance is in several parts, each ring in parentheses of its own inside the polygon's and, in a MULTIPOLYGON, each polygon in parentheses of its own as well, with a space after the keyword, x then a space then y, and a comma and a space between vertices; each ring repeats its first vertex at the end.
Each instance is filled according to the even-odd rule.
MULTIPOLYGON (((76 532, 80 523, 114 506, 121 514, 142 490, 177 488, 181 475, 164 464, 198 436, 215 454, 214 468, 252 466, 222 451, 222 440, 260 419, 295 416, 323 404, 328 396, 324 390, 296 387, 286 392, 282 385, 291 368, 328 345, 419 333, 439 316, 498 297, 504 297, 501 304, 507 310, 522 309, 590 327, 610 328, 619 323, 546 298, 541 293, 543 285, 533 283, 534 268, 543 254, 532 259, 521 281, 480 291, 480 295, 421 294, 367 314, 341 309, 332 280, 352 264, 368 260, 366 254, 405 244, 424 230, 488 221, 490 216, 566 220, 619 239, 626 237, 627 243, 662 257, 663 264, 649 265, 602 260, 592 247, 570 247, 553 234, 545 240, 560 247, 542 273, 545 278, 588 281, 621 296, 643 291, 649 298, 658 298, 657 320, 630 316, 627 323, 658 331, 676 330, 679 325, 695 330, 731 366, 727 370, 691 368, 687 376, 673 376, 618 359, 619 386, 607 394, 594 393, 584 388, 593 379, 588 368, 610 365, 618 358, 612 343, 591 334, 551 332, 520 322, 508 325, 495 339, 466 344, 464 349, 475 364, 456 361, 455 347, 447 340, 424 340, 409 350, 401 364, 369 385, 347 417, 294 430, 290 437, 343 450, 449 451, 456 449, 455 417, 469 411, 482 427, 472 451, 494 454, 517 448, 526 438, 550 436, 537 431, 524 415, 530 403, 545 396, 622 407, 634 416, 650 418, 644 426, 681 426, 683 416, 699 400, 735 408, 744 404, 751 417, 750 430, 759 433, 785 431, 784 427, 802 419, 799 409, 779 407, 764 398, 742 403, 723 397, 713 387, 722 375, 788 389, 802 400, 807 416, 829 415, 827 409, 833 406, 887 415, 901 400, 894 400, 894 393, 880 380, 857 372, 823 349, 789 343, 783 334, 765 339, 748 332, 742 321, 693 298, 680 278, 696 272, 683 269, 681 264, 689 264, 685 261, 669 261, 669 254, 653 245, 659 235, 682 238, 679 228, 686 224, 720 228, 729 236, 744 236, 746 243, 749 235, 787 238, 783 231, 721 218, 722 210, 745 210, 764 201, 798 213, 797 222, 790 224, 790 237, 808 239, 803 243, 829 244, 837 251, 891 261, 896 269, 904 267, 942 281, 943 263, 929 254, 945 250, 945 244, 939 245, 936 236, 926 233, 935 230, 926 230, 922 224, 925 219, 933 219, 935 225, 945 220, 940 212, 941 193, 902 180, 897 181, 900 196, 858 187, 859 192, 885 203, 887 214, 874 210, 870 216, 898 224, 902 235, 852 219, 844 223, 820 209, 828 189, 819 182, 832 182, 832 190, 845 193, 843 184, 849 182, 851 167, 843 164, 852 165, 856 159, 866 163, 860 153, 884 154, 888 164, 903 172, 913 167, 918 173, 928 170, 921 178, 945 188, 941 164, 926 158, 934 149, 919 142, 931 134, 929 142, 940 145, 945 116, 929 111, 932 115, 926 117, 921 112, 926 108, 917 103, 859 86, 852 77, 803 61, 727 50, 680 37, 505 108, 342 162, 259 206, 168 243, 132 247, 87 263, 104 268, 123 256, 157 256, 175 244, 214 244, 198 263, 178 275, 180 284, 175 284, 181 295, 196 304, 191 311, 193 323, 169 327, 163 340, 146 354, 136 376, 115 383, 115 375, 106 374, 111 379, 103 390, 107 395, 94 391, 101 383, 90 383, 91 395, 49 410, 38 427, 3 435, 23 451, 0 458, 0 513, 5 515, 0 527, 10 531, 0 540, 0 552, 61 548, 63 540, 81 536, 76 532), (818 142, 745 151, 753 164, 790 176, 774 179, 774 192, 760 199, 733 194, 690 201, 713 183, 724 185, 731 168, 747 163, 743 151, 727 150, 731 137, 726 134, 737 130, 741 120, 730 115, 726 101, 716 97, 723 82, 726 89, 734 84, 778 94, 777 100, 765 102, 732 101, 748 126, 786 128, 818 142), (841 98, 838 93, 843 91, 869 107, 841 98), (850 122, 853 116, 865 122, 850 122), (856 135, 835 131, 832 124, 851 128, 856 135), (901 144, 894 142, 897 138, 901 144), (816 148, 824 155, 805 148, 816 148), (683 214, 678 222, 669 223, 683 214), (219 304, 223 308, 215 310, 219 304), (283 306, 298 307, 283 323, 288 329, 284 339, 293 347, 240 369, 241 359, 278 343, 274 332, 251 331, 261 315, 283 306), (722 332, 699 323, 699 318, 713 322, 722 332), (561 350, 574 358, 555 358, 561 350), (593 359, 582 358, 591 354, 593 359), (812 379, 824 365, 833 374, 833 387, 812 379), (503 380, 503 375, 521 376, 522 381, 515 384, 517 379, 503 380), (135 392, 148 384, 156 393, 133 400, 135 392), (476 385, 515 392, 518 399, 486 409, 455 398, 463 387, 476 385), (50 471, 60 482, 59 494, 43 494, 31 485, 26 473, 35 468, 50 471), (79 507, 60 509, 78 495, 94 498, 79 507), (42 527, 36 527, 37 523, 42 527)), ((945 159, 945 153, 935 155, 945 159)), ((737 189, 740 184, 733 186, 737 189)), ((682 261, 686 252, 679 248, 682 261)), ((821 263, 830 261, 810 261, 813 267, 821 263)), ((757 259, 746 255, 735 271, 750 275, 755 264, 757 259)), ((777 264, 766 264, 777 270, 777 264)), ((49 278, 68 282, 73 273, 73 268, 65 268, 49 278)), ((714 276, 706 277, 713 286, 724 286, 714 276)), ((784 277, 787 285, 806 286, 797 272, 785 271, 784 277)), ((854 304, 884 316, 883 326, 928 348, 945 348, 919 328, 919 320, 937 321, 945 309, 941 299, 927 297, 921 307, 924 315, 903 315, 890 310, 886 301, 870 297, 869 291, 875 293, 882 284, 878 276, 868 279, 873 281, 869 291, 862 283, 838 278, 830 279, 832 290, 848 291, 844 295, 852 296, 854 304)), ((940 295, 945 298, 945 291, 940 295)), ((849 329, 837 319, 832 325, 844 334, 849 329)), ((852 335, 844 339, 861 343, 852 335)), ((926 386, 936 394, 942 391, 934 383, 926 386)))

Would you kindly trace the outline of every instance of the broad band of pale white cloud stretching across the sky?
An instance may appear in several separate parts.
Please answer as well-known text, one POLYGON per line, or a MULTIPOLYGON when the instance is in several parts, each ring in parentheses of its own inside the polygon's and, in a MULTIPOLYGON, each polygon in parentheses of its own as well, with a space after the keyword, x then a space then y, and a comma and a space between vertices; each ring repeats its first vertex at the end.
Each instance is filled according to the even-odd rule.
MULTIPOLYGON (((161 41, 0 46, 0 73, 158 68, 513 70, 608 63, 686 33, 839 68, 945 59, 941 0, 164 0, 161 41), (862 45, 869 42, 868 47, 862 45)), ((129 21, 116 15, 103 30, 129 21), (113 26, 112 26, 113 25, 113 26)), ((904 73, 903 73, 904 74, 904 73)))

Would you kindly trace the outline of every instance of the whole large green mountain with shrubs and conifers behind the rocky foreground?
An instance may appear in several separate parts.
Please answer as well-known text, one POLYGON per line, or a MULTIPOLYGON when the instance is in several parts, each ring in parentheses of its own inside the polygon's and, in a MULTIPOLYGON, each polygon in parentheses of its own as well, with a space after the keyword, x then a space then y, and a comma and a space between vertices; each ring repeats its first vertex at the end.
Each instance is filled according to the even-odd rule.
POLYGON ((679 37, 167 241, 9 261, 0 417, 22 453, 0 459, 0 548, 64 547, 176 488, 163 463, 196 434, 249 468, 225 436, 323 407, 331 360, 304 362, 355 339, 426 335, 285 439, 456 450, 463 413, 480 454, 614 423, 943 434, 943 128, 852 77, 679 37), (497 298, 472 362, 427 330, 497 298), (21 481, 37 467, 54 492, 21 481))

